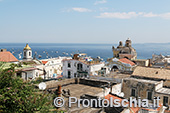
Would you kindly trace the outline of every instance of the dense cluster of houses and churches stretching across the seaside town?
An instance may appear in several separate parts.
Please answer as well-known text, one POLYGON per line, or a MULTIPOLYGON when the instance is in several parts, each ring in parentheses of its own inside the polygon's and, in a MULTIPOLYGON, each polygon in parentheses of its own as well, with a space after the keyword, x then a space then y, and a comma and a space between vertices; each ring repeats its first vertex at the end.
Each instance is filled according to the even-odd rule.
MULTIPOLYGON (((125 46, 120 42, 119 46, 112 47, 112 50, 113 58, 107 59, 106 62, 100 57, 92 58, 85 53, 77 53, 72 57, 38 60, 32 58, 32 49, 27 44, 23 49, 23 60, 19 61, 9 51, 1 49, 0 61, 6 62, 5 67, 9 67, 11 63, 20 64, 20 67, 16 67, 16 76, 24 80, 36 80, 39 77, 81 78, 80 82, 88 87, 104 85, 104 96, 101 87, 96 96, 103 96, 108 100, 110 97, 119 100, 140 97, 149 100, 149 107, 107 108, 106 111, 109 110, 110 113, 115 110, 120 113, 170 112, 169 56, 153 55, 152 59, 137 59, 137 52, 130 39, 126 40, 125 46), (160 97, 159 107, 153 106, 155 97, 160 97)), ((74 88, 70 90, 71 93, 74 93, 73 90, 74 88)))

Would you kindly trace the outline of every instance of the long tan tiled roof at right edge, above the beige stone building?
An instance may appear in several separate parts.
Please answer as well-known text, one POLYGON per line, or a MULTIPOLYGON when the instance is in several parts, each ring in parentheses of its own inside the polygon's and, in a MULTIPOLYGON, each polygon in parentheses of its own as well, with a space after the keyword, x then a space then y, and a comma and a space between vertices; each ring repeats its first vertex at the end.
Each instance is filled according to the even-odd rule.
POLYGON ((170 80, 170 70, 137 66, 132 76, 170 80))

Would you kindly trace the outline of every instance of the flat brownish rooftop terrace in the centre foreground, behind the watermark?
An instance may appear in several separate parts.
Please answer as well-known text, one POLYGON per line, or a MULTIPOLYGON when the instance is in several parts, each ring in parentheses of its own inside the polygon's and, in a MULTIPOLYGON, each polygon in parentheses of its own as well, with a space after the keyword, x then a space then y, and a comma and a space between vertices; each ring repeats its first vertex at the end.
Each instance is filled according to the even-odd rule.
MULTIPOLYGON (((62 90, 65 91, 68 91, 68 89, 70 90, 70 97, 76 97, 78 99, 80 99, 80 96, 84 94, 98 96, 97 94, 103 92, 102 88, 92 87, 83 84, 70 84, 62 87, 62 90)), ((70 113, 96 113, 101 110, 101 108, 91 108, 91 107, 84 108, 81 104, 80 107, 77 107, 77 103, 72 104, 71 108, 68 109, 68 98, 64 97, 64 100, 65 100, 65 107, 62 107, 62 109, 66 110, 67 112, 69 110, 70 113)))

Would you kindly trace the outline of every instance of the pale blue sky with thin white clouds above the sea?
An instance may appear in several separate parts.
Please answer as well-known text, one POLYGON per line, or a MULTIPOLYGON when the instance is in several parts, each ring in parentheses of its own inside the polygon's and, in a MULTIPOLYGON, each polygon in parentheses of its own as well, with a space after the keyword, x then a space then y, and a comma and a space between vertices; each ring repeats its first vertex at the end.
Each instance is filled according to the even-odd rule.
POLYGON ((1 43, 170 42, 170 0, 0 0, 1 43))

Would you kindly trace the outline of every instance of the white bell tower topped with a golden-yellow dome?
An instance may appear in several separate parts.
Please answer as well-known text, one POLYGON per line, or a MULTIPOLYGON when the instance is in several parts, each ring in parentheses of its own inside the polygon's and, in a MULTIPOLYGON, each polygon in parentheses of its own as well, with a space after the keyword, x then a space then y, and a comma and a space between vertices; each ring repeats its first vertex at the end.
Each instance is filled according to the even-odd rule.
POLYGON ((28 44, 26 44, 23 50, 23 60, 32 60, 32 50, 28 44))

